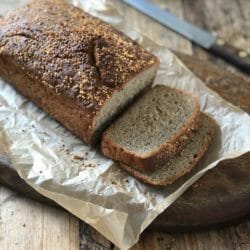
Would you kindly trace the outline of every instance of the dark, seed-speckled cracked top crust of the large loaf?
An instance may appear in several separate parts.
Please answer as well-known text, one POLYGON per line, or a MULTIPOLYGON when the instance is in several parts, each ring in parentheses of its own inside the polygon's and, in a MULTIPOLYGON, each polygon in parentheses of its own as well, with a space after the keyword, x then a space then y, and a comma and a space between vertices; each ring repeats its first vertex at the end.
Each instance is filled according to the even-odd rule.
MULTIPOLYGON (((0 58, 13 60, 30 81, 51 89, 55 99, 73 102, 87 120, 85 131, 77 132, 87 143, 93 120, 107 100, 159 63, 110 25, 60 0, 33 1, 10 13, 0 28, 0 58)), ((30 98, 37 103, 36 96, 30 98)))

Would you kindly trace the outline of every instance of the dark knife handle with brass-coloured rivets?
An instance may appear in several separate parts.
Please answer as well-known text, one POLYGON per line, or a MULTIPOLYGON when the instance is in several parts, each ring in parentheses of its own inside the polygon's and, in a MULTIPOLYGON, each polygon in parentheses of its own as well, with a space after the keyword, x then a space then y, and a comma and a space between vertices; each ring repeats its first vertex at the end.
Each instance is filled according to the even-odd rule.
POLYGON ((217 39, 208 50, 250 74, 250 54, 247 51, 237 49, 222 39, 217 39))

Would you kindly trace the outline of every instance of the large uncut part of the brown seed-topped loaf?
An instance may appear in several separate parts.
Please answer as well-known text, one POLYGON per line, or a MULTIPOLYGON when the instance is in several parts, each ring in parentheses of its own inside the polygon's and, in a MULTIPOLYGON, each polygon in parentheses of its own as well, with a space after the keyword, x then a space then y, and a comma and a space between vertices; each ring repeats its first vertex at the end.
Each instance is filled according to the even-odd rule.
POLYGON ((88 144, 151 85, 158 59, 60 0, 0 20, 0 76, 88 144))

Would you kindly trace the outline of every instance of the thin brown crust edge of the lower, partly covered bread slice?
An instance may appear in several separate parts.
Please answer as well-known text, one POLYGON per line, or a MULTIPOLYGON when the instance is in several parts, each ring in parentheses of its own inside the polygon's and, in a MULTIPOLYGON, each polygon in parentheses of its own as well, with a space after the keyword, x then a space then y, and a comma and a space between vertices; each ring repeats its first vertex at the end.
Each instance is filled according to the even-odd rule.
POLYGON ((126 170, 128 173, 130 173, 131 175, 133 175, 135 178, 137 178, 138 180, 150 184, 150 185, 154 185, 154 186, 167 186, 169 184, 172 184, 174 181, 176 181, 177 179, 179 179, 180 177, 182 177, 183 175, 187 174, 188 172, 191 171, 191 169, 195 166, 195 164, 201 159, 201 157, 204 155, 204 153, 207 151, 210 142, 213 138, 214 135, 214 131, 215 131, 215 122, 212 120, 212 118, 208 118, 210 119, 211 122, 211 127, 210 129, 207 131, 207 136, 204 137, 204 141, 202 143, 202 146, 198 149, 197 153, 195 153, 195 155, 193 156, 192 160, 188 162, 187 166, 185 169, 183 169, 182 171, 179 171, 178 174, 176 174, 174 177, 172 178, 166 178, 164 180, 153 180, 150 177, 144 175, 143 172, 130 167, 126 164, 120 163, 119 165, 126 170))

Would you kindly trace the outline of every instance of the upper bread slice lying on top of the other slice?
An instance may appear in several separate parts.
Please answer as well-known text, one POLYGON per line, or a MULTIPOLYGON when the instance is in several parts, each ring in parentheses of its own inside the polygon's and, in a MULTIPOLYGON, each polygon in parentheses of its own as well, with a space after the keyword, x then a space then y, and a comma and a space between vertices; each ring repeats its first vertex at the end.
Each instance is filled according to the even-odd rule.
POLYGON ((182 148, 199 126, 198 100, 163 85, 150 89, 104 133, 104 155, 153 170, 182 148))

